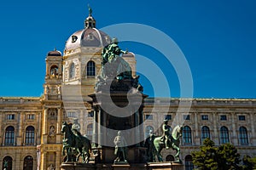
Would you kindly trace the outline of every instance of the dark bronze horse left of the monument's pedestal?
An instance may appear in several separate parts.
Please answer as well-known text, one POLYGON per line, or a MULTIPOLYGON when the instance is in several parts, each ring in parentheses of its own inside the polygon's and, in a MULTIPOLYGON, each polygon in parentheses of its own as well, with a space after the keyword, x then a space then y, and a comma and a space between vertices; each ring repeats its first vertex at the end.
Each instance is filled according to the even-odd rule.
POLYGON ((67 161, 72 157, 72 150, 78 151, 79 155, 76 156, 76 161, 79 161, 79 156, 82 156, 83 162, 88 163, 90 159, 91 144, 90 140, 82 135, 75 135, 67 122, 62 123, 61 133, 64 133, 62 155, 65 156, 67 152, 67 161))

